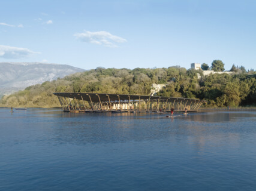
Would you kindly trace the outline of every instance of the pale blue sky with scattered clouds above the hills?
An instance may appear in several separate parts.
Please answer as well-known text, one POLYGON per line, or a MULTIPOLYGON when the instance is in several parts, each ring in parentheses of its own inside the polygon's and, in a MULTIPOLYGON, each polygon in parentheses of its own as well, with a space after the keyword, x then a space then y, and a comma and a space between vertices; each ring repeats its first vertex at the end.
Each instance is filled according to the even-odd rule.
POLYGON ((256 69, 256 1, 0 0, 0 62, 256 69))

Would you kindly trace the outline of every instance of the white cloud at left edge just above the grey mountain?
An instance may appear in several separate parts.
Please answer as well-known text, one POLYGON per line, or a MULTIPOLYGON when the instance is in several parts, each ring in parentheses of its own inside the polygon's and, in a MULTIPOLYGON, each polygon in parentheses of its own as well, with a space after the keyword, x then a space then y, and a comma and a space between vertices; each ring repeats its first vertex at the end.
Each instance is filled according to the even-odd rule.
POLYGON ((5 45, 0 45, 0 58, 23 58, 28 57, 32 54, 40 54, 35 53, 28 48, 19 48, 19 47, 9 47, 5 45))

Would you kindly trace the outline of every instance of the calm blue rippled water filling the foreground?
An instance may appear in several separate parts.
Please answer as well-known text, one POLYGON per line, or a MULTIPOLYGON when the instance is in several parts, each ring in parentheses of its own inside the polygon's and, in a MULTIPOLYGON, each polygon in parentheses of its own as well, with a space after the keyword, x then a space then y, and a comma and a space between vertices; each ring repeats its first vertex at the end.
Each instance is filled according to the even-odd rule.
POLYGON ((0 109, 0 190, 256 190, 256 112, 0 109))

